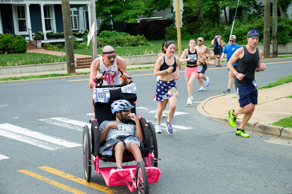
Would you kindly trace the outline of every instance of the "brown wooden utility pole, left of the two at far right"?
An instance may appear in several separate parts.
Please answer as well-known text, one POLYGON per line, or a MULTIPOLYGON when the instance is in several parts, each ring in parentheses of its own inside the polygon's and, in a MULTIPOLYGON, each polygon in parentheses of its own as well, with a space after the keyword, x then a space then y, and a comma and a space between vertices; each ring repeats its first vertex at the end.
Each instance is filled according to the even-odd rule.
POLYGON ((270 12, 271 1, 265 0, 264 9, 264 58, 270 58, 270 12))

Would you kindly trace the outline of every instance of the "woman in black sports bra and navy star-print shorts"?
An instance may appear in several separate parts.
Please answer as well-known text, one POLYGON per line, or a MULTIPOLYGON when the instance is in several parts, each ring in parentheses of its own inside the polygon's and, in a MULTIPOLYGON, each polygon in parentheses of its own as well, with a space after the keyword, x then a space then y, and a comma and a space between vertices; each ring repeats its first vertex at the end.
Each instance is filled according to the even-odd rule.
POLYGON ((164 47, 166 54, 160 56, 154 67, 154 76, 159 75, 159 80, 156 85, 156 92, 154 94, 154 101, 157 101, 157 124, 156 133, 161 133, 161 115, 164 108, 164 100, 169 100, 168 118, 165 122, 167 132, 172 134, 171 119, 175 113, 176 101, 178 92, 175 80, 179 78, 179 59, 174 56, 175 43, 169 41, 164 47))

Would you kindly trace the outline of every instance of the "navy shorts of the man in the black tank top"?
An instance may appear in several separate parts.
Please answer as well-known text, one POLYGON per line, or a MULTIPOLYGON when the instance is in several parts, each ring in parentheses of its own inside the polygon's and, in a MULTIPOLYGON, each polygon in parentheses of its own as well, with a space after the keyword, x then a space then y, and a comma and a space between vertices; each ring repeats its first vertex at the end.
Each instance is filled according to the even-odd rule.
POLYGON ((253 83, 236 88, 236 93, 240 107, 246 106, 250 103, 258 104, 258 89, 253 83))

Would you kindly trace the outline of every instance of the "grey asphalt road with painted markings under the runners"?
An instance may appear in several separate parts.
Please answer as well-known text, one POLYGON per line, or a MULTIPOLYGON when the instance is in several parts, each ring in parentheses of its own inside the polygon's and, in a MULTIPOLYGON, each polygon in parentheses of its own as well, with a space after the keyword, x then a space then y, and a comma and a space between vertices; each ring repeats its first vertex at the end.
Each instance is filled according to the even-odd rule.
MULTIPOLYGON (((258 86, 291 74, 291 62, 265 62, 267 69, 256 73, 258 86)), ((275 137, 260 133, 237 137, 232 127, 197 113, 200 101, 227 89, 227 68, 208 68, 211 84, 198 92, 194 81, 192 105, 186 104, 180 72, 177 115, 172 120, 176 128, 168 134, 162 127, 163 133, 157 134, 161 176, 150 184, 150 193, 292 193, 291 146, 265 142, 275 137)), ((133 74, 133 81, 137 113, 155 124, 156 77, 151 72, 133 74)), ((92 184, 84 185, 82 125, 89 124, 92 111, 87 80, 1 84, 0 104, 9 104, 0 106, 1 194, 130 193, 125 185, 107 188, 94 170, 92 184)), ((101 161, 100 166, 115 164, 101 161)))

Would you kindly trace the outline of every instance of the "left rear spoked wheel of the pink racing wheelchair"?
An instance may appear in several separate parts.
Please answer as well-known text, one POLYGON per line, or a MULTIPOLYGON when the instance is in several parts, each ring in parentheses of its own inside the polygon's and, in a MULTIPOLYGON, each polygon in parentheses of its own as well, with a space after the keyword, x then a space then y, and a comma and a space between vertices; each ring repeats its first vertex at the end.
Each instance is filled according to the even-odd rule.
POLYGON ((89 182, 91 178, 91 146, 90 134, 87 125, 85 125, 83 128, 83 165, 85 179, 87 182, 89 182))

